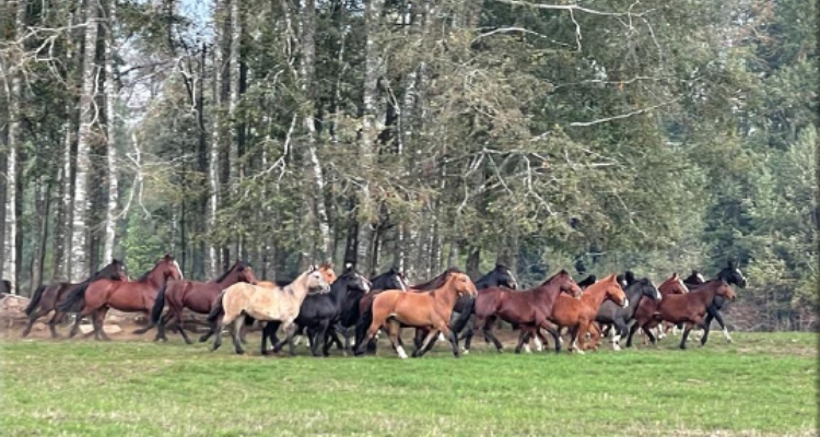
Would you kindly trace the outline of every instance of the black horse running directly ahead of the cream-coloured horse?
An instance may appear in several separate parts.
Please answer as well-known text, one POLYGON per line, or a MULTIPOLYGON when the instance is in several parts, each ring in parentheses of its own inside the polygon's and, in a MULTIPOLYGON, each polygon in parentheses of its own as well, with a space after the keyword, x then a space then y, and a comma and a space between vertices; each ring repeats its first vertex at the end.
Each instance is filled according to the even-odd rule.
MULTIPOLYGON (((330 286, 329 293, 324 294, 312 294, 305 297, 305 300, 300 307, 298 317, 296 317, 295 323, 298 327, 298 332, 307 331, 307 339, 311 344, 311 351, 314 356, 320 356, 319 345, 324 344, 323 354, 327 356, 329 354, 331 342, 328 342, 330 336, 335 336, 336 341, 341 343, 336 336, 335 326, 340 321, 342 316, 344 304, 348 302, 348 296, 351 294, 358 294, 361 296, 371 290, 371 282, 364 276, 359 274, 352 264, 348 264, 344 272, 337 277, 333 284, 330 286), (321 340, 321 342, 319 341, 321 340)), ((273 352, 279 352, 284 346, 285 341, 277 342, 276 332, 279 328, 279 323, 269 322, 262 330, 262 354, 267 354, 266 341, 270 338, 274 343, 273 352)))

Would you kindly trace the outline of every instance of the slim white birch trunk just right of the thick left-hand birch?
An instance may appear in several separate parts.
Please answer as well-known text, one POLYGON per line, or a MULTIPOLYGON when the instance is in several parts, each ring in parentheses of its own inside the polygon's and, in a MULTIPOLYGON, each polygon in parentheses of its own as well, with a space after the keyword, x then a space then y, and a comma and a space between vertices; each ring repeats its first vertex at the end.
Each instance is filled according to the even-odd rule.
POLYGON ((108 263, 114 259, 114 245, 117 234, 117 205, 119 198, 119 186, 117 172, 117 142, 116 142, 116 109, 119 102, 119 92, 116 85, 114 57, 117 55, 117 36, 114 31, 117 25, 117 0, 108 0, 107 33, 105 38, 105 110, 106 110, 106 157, 108 164, 108 199, 105 214, 105 248, 103 249, 102 263, 108 263))

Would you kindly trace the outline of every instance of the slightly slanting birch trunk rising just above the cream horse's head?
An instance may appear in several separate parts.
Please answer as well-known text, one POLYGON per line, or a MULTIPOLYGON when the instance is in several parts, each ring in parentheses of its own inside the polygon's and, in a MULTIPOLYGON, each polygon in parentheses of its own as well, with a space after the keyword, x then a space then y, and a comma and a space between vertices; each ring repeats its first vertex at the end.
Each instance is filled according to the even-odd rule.
POLYGON ((314 78, 316 75, 316 2, 304 0, 302 2, 302 58, 300 70, 302 75, 302 93, 305 103, 303 106, 302 120, 307 134, 307 162, 309 163, 309 181, 312 196, 305 196, 311 203, 309 210, 316 215, 316 226, 321 238, 320 257, 323 261, 332 258, 332 240, 330 239, 330 225, 328 221, 328 206, 325 204, 325 175, 321 169, 318 154, 316 152, 316 99, 314 78))

